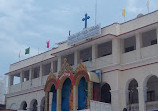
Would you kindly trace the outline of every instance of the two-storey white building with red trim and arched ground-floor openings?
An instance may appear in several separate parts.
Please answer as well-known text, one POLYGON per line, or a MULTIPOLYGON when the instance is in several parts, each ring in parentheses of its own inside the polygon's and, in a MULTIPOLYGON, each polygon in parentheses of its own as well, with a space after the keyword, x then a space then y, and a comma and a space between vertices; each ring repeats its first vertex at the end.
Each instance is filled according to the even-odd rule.
MULTIPOLYGON (((158 11, 155 11, 103 27, 100 35, 75 45, 59 43, 57 48, 11 64, 6 74, 9 78, 7 108, 43 111, 48 74, 51 71, 58 78, 67 58, 73 70, 82 60, 88 72, 101 72, 100 97, 93 95, 92 100, 108 103, 112 111, 158 110, 157 39, 158 11), (19 83, 14 83, 15 78, 19 78, 19 83)), ((57 110, 61 111, 59 98, 57 95, 57 110)), ((51 111, 52 99, 47 103, 51 111)), ((78 104, 73 105, 76 110, 78 104)))

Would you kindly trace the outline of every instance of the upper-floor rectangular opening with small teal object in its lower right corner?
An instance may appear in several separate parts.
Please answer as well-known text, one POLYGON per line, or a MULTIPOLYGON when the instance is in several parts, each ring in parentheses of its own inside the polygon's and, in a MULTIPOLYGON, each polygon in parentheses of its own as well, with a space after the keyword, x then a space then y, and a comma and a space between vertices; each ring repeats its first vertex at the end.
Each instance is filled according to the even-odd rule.
POLYGON ((92 60, 92 47, 80 51, 80 60, 82 60, 82 62, 92 60))

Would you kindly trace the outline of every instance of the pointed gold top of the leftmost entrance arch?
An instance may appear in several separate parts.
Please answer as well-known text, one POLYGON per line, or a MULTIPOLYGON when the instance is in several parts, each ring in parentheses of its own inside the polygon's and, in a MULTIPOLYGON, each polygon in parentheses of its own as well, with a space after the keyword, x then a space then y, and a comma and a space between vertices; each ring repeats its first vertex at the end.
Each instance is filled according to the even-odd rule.
POLYGON ((49 74, 45 87, 44 87, 44 91, 46 92, 50 92, 52 85, 54 84, 54 86, 56 86, 57 83, 57 79, 54 73, 49 74))

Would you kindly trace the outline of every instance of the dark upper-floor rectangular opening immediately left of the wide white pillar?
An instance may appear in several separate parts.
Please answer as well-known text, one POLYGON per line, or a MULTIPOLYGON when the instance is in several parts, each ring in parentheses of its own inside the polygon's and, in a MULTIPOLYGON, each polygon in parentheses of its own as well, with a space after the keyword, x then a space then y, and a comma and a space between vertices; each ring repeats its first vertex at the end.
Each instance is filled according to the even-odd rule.
POLYGON ((112 41, 98 45, 98 58, 112 54, 112 41))

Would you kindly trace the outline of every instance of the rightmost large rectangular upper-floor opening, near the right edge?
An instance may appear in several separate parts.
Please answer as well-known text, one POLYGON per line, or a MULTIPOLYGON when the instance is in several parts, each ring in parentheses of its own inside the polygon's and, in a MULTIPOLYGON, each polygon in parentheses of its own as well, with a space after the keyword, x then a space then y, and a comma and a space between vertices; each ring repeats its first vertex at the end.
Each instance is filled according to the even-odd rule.
POLYGON ((157 44, 156 29, 142 33, 142 47, 157 44))

